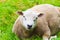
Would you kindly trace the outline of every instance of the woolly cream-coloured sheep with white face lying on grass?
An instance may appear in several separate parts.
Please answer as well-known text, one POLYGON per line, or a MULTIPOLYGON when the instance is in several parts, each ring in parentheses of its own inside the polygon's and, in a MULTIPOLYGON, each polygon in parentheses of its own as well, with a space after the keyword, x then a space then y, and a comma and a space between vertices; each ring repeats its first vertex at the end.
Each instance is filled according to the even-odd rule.
POLYGON ((13 25, 12 32, 22 40, 33 35, 49 40, 60 31, 60 7, 41 4, 17 13, 19 17, 13 25))

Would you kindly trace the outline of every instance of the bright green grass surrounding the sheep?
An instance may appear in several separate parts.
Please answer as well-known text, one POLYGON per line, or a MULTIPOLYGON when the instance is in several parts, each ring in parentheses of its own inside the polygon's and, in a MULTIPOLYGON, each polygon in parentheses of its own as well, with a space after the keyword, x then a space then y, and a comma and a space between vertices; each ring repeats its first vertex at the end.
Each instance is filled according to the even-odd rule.
MULTIPOLYGON (((24 11, 36 4, 46 3, 60 6, 60 0, 0 0, 0 40, 19 40, 12 33, 13 24, 18 17, 15 13, 17 10, 24 11)), ((32 38, 40 40, 38 36, 32 38)), ((60 40, 60 33, 56 40, 60 40)))

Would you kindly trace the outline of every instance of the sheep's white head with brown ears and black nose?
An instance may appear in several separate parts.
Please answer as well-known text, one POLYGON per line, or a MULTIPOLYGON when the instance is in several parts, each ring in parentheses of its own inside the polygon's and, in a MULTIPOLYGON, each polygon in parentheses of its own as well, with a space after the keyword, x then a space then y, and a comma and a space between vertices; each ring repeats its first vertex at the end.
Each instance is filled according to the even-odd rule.
POLYGON ((36 26, 38 17, 42 14, 38 14, 31 11, 18 12, 22 16, 22 25, 26 30, 32 30, 36 26))

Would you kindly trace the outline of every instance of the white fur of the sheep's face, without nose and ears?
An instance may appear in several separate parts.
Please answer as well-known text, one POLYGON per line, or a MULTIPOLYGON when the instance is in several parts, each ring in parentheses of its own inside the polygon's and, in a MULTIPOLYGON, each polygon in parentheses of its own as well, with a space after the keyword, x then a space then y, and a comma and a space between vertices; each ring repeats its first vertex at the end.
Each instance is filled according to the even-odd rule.
POLYGON ((32 25, 32 28, 33 29, 35 27, 35 22, 34 20, 36 19, 37 15, 39 13, 36 13, 30 9, 26 10, 23 12, 23 16, 25 16, 26 20, 24 17, 22 17, 22 24, 24 25, 24 27, 28 30, 28 26, 27 25, 32 25))

